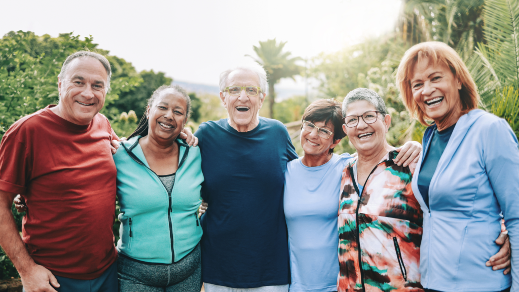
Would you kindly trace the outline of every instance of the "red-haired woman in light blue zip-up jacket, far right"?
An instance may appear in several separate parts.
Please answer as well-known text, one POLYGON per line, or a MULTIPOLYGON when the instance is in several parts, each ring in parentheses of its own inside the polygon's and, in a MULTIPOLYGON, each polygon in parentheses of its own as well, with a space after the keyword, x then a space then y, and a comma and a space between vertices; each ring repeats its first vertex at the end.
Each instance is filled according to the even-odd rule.
POLYGON ((424 124, 424 151, 413 192, 424 211, 420 251, 426 290, 490 292, 519 289, 512 274, 485 267, 497 253, 501 216, 512 254, 519 254, 519 149, 503 119, 477 109, 479 95, 467 67, 444 43, 409 49, 397 82, 404 103, 424 124))

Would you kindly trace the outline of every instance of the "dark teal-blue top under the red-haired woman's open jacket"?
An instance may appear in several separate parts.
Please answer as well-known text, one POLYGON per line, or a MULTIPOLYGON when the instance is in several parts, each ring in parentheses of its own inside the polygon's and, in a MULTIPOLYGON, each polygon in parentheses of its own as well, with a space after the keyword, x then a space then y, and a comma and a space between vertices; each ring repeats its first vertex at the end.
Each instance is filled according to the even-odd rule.
POLYGON ((440 157, 442 157, 443 151, 447 147, 450 135, 453 134, 455 126, 456 124, 443 131, 438 131, 438 128, 434 129, 431 143, 422 162, 420 174, 418 175, 418 190, 420 190, 420 194, 424 198, 427 208, 429 208, 429 185, 431 184, 432 176, 436 171, 440 157))

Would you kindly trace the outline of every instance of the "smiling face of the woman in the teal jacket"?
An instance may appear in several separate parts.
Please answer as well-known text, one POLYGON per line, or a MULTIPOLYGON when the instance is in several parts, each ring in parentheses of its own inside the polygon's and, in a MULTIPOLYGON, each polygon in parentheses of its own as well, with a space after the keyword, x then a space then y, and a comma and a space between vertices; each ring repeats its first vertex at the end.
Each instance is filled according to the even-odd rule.
POLYGON ((186 124, 186 98, 174 90, 165 90, 146 110, 148 135, 157 142, 172 143, 186 124))

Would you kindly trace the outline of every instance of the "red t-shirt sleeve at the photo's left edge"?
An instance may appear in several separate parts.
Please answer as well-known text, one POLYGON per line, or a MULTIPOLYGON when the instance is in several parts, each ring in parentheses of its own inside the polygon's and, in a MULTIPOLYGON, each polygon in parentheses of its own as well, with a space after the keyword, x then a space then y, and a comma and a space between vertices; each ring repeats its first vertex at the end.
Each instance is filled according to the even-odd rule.
POLYGON ((24 194, 29 177, 28 147, 23 141, 20 125, 12 125, 0 143, 0 190, 24 194))

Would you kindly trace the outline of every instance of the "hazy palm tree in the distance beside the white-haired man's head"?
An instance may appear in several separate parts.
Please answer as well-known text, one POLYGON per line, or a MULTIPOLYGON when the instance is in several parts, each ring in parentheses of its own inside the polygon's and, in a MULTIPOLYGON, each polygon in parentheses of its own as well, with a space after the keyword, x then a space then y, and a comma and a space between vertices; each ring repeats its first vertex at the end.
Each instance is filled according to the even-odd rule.
POLYGON ((254 61, 263 65, 268 74, 268 96, 269 96, 269 112, 270 118, 274 117, 274 103, 276 94, 274 92, 274 85, 280 81, 281 78, 292 78, 299 75, 303 67, 296 64, 297 61, 303 60, 300 57, 290 58, 291 52, 283 52, 283 47, 286 42, 276 42, 276 38, 267 39, 265 42, 260 41, 260 46, 253 46, 258 59, 249 56, 254 61))

